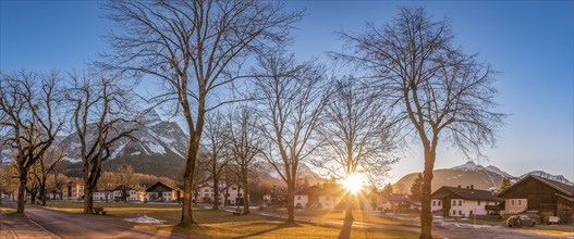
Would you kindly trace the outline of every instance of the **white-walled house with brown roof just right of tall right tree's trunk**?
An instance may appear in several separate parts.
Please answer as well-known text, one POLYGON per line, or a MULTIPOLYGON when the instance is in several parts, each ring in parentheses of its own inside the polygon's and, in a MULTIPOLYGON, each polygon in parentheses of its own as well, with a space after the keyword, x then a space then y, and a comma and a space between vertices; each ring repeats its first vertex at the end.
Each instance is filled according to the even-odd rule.
POLYGON ((466 188, 441 187, 430 194, 431 211, 438 216, 473 217, 498 213, 502 198, 491 191, 475 189, 473 185, 466 188))

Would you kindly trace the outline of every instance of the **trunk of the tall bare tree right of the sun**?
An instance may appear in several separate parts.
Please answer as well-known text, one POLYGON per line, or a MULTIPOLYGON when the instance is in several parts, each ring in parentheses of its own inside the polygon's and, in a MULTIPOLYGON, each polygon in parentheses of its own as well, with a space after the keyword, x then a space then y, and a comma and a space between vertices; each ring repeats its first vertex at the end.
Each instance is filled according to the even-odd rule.
MULTIPOLYGON (((436 147, 435 147, 436 148, 436 147)), ((420 236, 419 239, 432 238, 432 214, 430 212, 430 193, 432 183, 432 168, 435 167, 435 159, 437 153, 435 148, 430 149, 425 147, 425 171, 423 172, 423 200, 420 212, 420 236)))

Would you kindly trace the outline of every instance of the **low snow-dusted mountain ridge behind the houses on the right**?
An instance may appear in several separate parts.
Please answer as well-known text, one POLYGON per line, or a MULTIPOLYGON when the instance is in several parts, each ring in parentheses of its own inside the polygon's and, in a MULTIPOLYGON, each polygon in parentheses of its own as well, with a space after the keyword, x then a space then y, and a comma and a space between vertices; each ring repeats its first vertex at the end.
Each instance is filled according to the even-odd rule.
MULTIPOLYGON (((413 185, 417 175, 418 173, 413 173, 403 176, 393 185, 393 191, 396 193, 411 193, 411 185, 413 185)), ((527 175, 536 175, 563 184, 574 185, 562 175, 552 175, 544 171, 533 171, 521 176, 513 176, 496 166, 489 165, 485 167, 468 161, 463 165, 451 168, 435 169, 431 188, 433 191, 442 186, 467 187, 473 185, 476 189, 489 190, 498 188, 504 177, 509 178, 511 183, 515 183, 527 175)))

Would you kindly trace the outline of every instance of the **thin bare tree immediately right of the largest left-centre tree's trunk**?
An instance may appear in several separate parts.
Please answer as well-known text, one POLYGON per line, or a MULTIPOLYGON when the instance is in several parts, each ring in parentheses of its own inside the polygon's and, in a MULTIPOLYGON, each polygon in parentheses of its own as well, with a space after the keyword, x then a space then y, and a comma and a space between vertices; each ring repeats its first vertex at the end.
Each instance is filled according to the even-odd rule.
MULTIPOLYGON (((225 167, 232 160, 227 149, 228 140, 225 137, 225 127, 223 116, 217 112, 207 117, 205 143, 208 168, 213 184, 213 210, 219 210, 219 197, 221 197, 221 177, 225 173, 225 167)), ((228 187, 227 185, 224 187, 228 187)))

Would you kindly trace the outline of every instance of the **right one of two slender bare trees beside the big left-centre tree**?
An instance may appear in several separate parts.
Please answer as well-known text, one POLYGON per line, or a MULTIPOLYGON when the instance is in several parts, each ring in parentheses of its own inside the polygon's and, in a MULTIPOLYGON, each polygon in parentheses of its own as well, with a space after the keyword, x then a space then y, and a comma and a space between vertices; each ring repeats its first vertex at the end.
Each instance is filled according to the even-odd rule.
POLYGON ((231 156, 237 166, 237 176, 243 188, 243 214, 249 214, 249 183, 253 180, 253 165, 261 152, 262 140, 257 134, 254 110, 241 105, 228 114, 227 138, 231 156))

